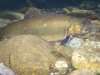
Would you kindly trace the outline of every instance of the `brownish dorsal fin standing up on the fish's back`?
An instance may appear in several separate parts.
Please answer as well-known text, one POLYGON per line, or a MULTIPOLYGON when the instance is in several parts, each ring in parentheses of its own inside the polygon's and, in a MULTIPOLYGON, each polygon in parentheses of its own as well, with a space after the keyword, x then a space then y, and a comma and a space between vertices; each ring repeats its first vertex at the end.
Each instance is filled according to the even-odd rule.
POLYGON ((41 14, 41 12, 37 8, 29 7, 28 10, 25 13, 25 18, 31 18, 31 17, 37 16, 37 15, 40 15, 40 14, 41 14))

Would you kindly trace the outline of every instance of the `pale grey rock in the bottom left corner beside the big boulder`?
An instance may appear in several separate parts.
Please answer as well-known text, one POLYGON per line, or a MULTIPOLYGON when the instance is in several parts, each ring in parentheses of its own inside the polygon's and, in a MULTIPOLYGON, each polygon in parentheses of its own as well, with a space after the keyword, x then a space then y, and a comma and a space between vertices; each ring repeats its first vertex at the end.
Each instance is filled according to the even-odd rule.
POLYGON ((0 63, 0 75, 17 75, 10 68, 0 63))

